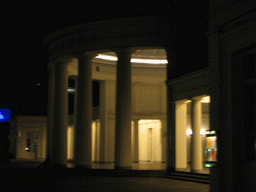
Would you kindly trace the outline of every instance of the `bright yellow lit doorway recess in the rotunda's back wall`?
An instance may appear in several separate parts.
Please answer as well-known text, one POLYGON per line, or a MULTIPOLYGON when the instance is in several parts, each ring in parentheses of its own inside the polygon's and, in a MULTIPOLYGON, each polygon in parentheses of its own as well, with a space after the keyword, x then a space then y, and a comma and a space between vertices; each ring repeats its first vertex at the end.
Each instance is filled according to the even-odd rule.
POLYGON ((139 121, 139 161, 162 161, 161 121, 139 121), (150 128, 152 128, 152 150, 150 152, 150 128), (151 156, 152 153, 152 156, 151 156), (151 158, 152 157, 152 158, 151 158))

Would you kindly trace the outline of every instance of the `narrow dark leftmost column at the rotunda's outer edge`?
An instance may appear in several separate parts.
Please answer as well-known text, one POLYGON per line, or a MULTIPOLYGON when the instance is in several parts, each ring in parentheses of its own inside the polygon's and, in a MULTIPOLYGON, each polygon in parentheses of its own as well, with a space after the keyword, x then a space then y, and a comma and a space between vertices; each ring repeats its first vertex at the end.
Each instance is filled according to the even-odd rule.
POLYGON ((48 103, 47 103, 47 144, 46 144, 46 153, 47 160, 50 161, 52 158, 52 132, 53 132, 53 112, 54 112, 54 64, 49 63, 47 66, 49 71, 49 80, 48 80, 48 103))

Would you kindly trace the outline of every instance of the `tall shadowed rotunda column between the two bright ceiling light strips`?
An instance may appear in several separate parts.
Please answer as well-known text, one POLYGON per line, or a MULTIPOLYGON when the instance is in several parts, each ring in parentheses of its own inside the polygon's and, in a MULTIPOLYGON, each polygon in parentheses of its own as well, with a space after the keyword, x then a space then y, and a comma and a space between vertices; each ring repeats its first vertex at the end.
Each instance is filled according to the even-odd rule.
POLYGON ((116 84, 116 137, 115 169, 131 169, 131 50, 116 51, 117 84, 116 84))

